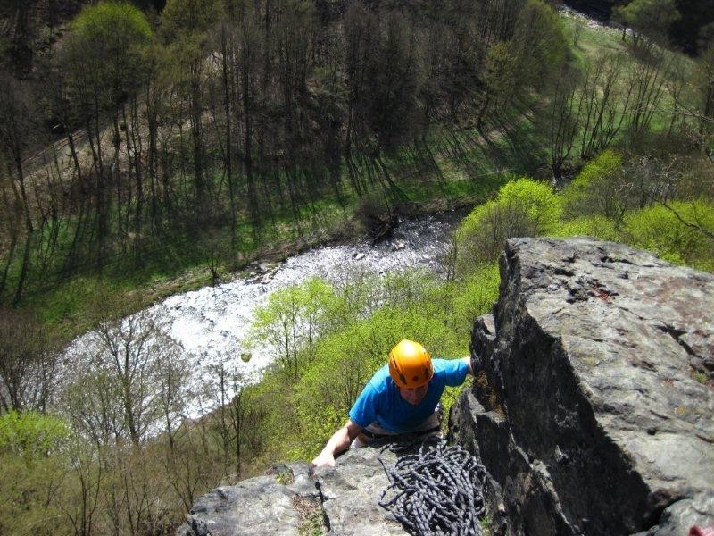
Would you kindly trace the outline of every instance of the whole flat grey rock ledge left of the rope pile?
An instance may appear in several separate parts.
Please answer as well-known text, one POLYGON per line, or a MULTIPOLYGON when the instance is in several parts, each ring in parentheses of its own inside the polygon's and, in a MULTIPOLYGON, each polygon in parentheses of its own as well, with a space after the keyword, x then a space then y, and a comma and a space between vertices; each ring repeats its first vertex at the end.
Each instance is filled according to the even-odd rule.
MULTIPOLYGON (((378 454, 349 450, 336 467, 314 474, 304 463, 275 465, 271 474, 212 490, 195 502, 177 536, 404 535, 378 505, 389 484, 378 454)), ((382 457, 394 463, 393 454, 382 457)))

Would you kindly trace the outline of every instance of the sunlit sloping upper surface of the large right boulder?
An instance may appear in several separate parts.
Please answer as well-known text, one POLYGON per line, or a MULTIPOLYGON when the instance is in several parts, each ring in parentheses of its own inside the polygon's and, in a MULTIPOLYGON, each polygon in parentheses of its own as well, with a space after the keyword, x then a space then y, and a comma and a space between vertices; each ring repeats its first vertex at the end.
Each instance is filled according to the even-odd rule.
POLYGON ((713 488, 714 393, 689 365, 692 354, 714 353, 714 277, 589 239, 509 247, 521 267, 557 285, 530 286, 523 312, 560 343, 597 422, 652 492, 677 498, 713 488), (558 274, 563 259, 573 275, 558 274), (585 299, 563 306, 573 296, 585 299))

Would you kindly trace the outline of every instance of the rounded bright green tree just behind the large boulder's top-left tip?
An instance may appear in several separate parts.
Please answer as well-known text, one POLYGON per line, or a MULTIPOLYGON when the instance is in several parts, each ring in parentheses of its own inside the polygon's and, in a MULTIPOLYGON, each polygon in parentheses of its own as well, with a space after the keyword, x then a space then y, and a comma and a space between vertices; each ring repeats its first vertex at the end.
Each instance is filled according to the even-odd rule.
POLYGON ((503 243, 513 237, 535 237, 555 230, 562 213, 560 197, 532 179, 511 180, 498 197, 479 205, 456 232, 458 273, 493 263, 503 243))

